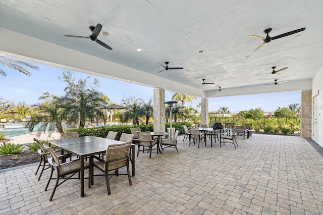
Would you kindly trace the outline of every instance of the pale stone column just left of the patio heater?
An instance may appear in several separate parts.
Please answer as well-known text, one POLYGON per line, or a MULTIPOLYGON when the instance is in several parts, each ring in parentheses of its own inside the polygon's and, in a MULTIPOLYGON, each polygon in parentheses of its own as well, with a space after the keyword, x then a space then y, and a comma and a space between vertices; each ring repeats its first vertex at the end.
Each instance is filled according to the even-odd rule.
POLYGON ((165 89, 153 89, 153 131, 165 132, 165 89))

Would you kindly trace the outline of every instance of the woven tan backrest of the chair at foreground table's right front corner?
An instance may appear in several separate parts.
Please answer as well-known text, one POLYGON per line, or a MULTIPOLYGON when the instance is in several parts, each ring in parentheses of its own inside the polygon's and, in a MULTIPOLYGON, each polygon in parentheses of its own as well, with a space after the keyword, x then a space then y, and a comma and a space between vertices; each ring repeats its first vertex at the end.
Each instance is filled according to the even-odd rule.
POLYGON ((130 146, 131 141, 107 146, 105 153, 105 162, 110 162, 108 163, 108 167, 118 169, 127 165, 127 157, 130 153, 130 146))

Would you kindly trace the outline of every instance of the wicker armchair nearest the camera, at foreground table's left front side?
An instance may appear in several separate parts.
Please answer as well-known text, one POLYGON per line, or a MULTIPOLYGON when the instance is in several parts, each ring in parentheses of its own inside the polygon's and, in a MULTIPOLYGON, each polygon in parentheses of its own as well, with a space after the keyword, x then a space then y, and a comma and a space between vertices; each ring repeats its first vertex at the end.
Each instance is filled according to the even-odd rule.
MULTIPOLYGON (((50 180, 56 179, 55 187, 52 190, 50 198, 49 198, 49 201, 51 201, 52 197, 55 194, 56 188, 58 186, 63 184, 68 179, 80 179, 81 160, 77 159, 77 160, 72 160, 70 162, 61 163, 61 160, 59 159, 59 157, 57 156, 57 154, 55 153, 55 151, 52 148, 50 148, 49 146, 46 146, 45 148, 49 151, 49 153, 51 155, 51 158, 48 158, 48 163, 51 165, 51 173, 50 173, 50 177, 48 179, 47 185, 45 187, 45 191, 48 188, 50 180), (54 170, 57 173, 56 178, 52 178, 52 174, 53 174, 54 170), (79 177, 72 178, 76 173, 79 173, 79 177), (67 176, 69 176, 69 177, 67 177, 67 176), (60 179, 63 179, 64 181, 59 183, 60 179)), ((84 162, 84 169, 89 169, 89 186, 90 186, 91 172, 90 172, 89 164, 86 162, 84 162)))

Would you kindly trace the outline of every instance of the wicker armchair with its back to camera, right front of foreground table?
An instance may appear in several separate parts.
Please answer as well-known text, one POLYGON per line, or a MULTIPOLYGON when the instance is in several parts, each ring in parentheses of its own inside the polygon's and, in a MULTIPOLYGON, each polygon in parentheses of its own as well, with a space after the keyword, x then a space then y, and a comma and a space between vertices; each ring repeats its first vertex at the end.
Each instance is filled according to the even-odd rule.
MULTIPOLYGON (((130 147, 132 140, 129 142, 121 143, 121 144, 113 144, 107 146, 105 159, 100 159, 99 157, 95 157, 98 161, 93 162, 93 167, 96 167, 98 170, 104 173, 105 175, 105 183, 107 194, 111 194, 110 189, 110 179, 113 175, 128 175, 129 185, 132 185, 130 170, 129 170, 129 159, 130 159, 130 147), (122 167, 127 167, 127 174, 120 174, 119 169, 122 167), (109 171, 114 171, 111 175, 109 175, 109 171)), ((93 168, 91 173, 91 181, 94 183, 94 175, 93 168)))

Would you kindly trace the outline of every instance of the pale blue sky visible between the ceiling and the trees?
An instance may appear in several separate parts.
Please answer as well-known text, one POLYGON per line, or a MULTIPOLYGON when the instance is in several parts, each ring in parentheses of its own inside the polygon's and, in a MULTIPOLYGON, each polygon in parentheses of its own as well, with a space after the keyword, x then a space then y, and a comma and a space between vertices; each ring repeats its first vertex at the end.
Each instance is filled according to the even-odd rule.
MULTIPOLYGON (((63 70, 46 65, 35 65, 39 67, 39 71, 29 70, 31 71, 31 76, 26 76, 15 70, 2 67, 7 73, 7 76, 0 76, 0 97, 10 101, 25 101, 28 104, 34 104, 40 102, 38 97, 44 92, 64 95, 66 83, 58 80, 63 70)), ((74 72, 74 75, 75 80, 78 80, 79 77, 84 79, 89 76, 88 74, 79 72, 74 72)), ((153 88, 151 87, 93 75, 90 75, 88 83, 91 83, 94 77, 100 81, 100 87, 97 90, 117 104, 121 103, 123 95, 142 98, 145 102, 153 98, 153 88)), ((165 100, 172 100, 173 94, 174 92, 166 91, 165 100)), ((278 107, 288 107, 292 103, 300 104, 300 99, 300 91, 209 98, 208 110, 217 111, 220 106, 227 106, 232 113, 256 108, 262 108, 264 112, 274 112, 278 107)), ((191 104, 192 107, 196 109, 196 105, 200 101, 201 99, 197 98, 191 104)), ((186 104, 186 106, 188 105, 189 103, 186 104)), ((200 111, 200 109, 197 110, 200 111)))

